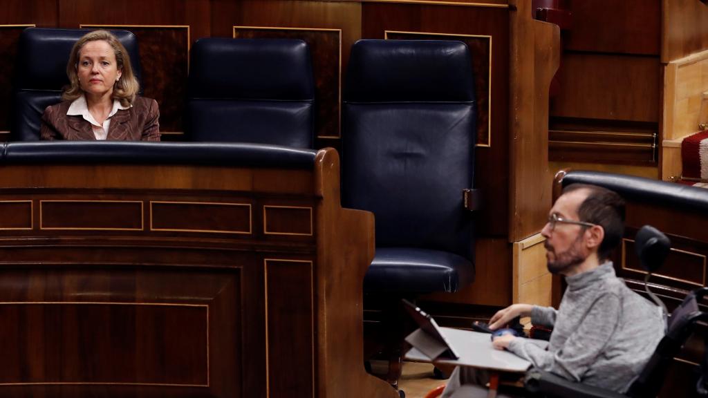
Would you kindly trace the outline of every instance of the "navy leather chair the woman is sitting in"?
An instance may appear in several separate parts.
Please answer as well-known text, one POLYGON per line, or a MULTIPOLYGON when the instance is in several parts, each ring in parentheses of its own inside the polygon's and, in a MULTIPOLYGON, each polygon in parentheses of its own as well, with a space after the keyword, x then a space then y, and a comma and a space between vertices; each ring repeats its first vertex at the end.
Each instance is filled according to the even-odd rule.
MULTIPOLYGON (((86 29, 27 28, 20 35, 11 140, 40 139, 42 113, 47 106, 62 101, 62 89, 69 84, 69 53, 76 40, 88 32, 86 29)), ((126 30, 111 30, 111 33, 125 46, 133 73, 141 81, 137 38, 126 30)))

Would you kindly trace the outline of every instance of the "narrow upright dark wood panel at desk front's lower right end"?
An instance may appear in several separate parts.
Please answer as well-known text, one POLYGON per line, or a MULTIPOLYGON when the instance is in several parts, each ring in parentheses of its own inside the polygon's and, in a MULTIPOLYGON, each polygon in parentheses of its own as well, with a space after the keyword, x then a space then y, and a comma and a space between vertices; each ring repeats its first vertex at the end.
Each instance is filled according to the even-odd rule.
POLYGON ((314 397, 313 273, 310 261, 265 259, 269 397, 314 397))

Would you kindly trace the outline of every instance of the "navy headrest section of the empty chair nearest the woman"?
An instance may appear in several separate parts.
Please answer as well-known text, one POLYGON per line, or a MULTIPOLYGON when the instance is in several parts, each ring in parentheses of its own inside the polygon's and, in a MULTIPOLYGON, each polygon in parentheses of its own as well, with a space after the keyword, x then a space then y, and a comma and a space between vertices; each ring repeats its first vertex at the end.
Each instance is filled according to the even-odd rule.
POLYGON ((313 79, 302 40, 203 38, 192 47, 190 98, 312 101, 313 79))

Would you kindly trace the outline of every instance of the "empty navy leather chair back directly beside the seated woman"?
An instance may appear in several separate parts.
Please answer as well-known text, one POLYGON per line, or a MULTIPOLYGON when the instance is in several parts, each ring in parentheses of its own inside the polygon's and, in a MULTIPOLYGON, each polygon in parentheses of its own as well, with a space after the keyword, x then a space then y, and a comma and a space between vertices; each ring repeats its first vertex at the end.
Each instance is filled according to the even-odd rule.
POLYGON ((192 47, 190 140, 314 146, 314 81, 302 40, 205 38, 192 47))

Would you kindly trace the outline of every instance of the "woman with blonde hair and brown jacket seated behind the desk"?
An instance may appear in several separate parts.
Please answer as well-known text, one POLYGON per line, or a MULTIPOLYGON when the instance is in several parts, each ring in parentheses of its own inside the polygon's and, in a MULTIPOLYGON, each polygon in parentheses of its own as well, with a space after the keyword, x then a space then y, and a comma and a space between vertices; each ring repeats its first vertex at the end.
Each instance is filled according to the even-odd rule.
POLYGON ((159 141, 155 100, 137 96, 139 83, 117 38, 94 30, 69 56, 70 84, 42 115, 42 140, 159 141))

